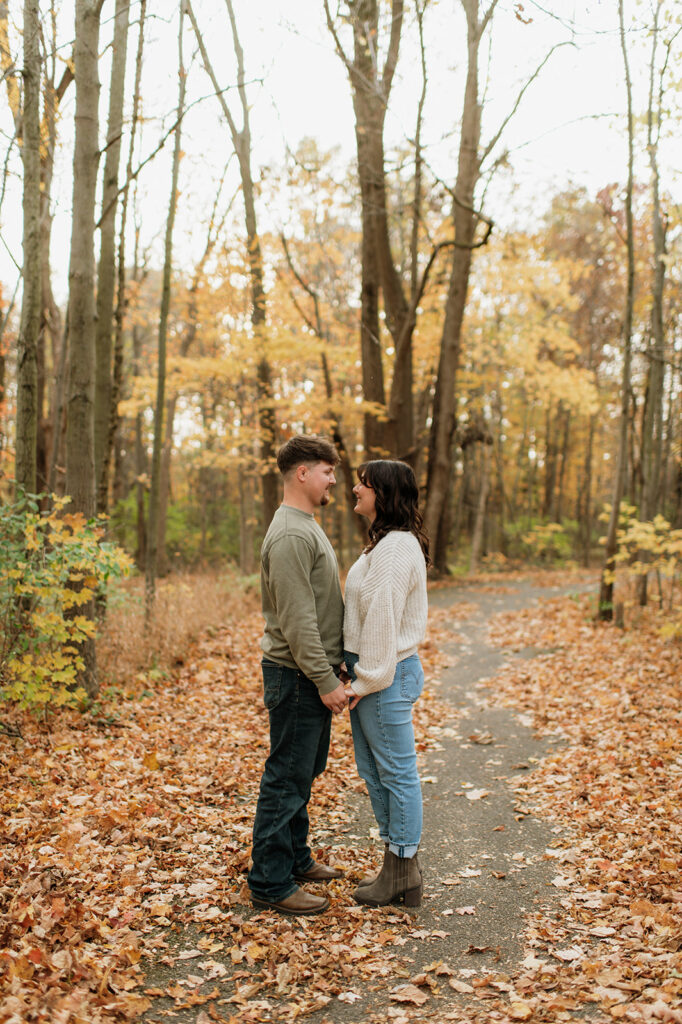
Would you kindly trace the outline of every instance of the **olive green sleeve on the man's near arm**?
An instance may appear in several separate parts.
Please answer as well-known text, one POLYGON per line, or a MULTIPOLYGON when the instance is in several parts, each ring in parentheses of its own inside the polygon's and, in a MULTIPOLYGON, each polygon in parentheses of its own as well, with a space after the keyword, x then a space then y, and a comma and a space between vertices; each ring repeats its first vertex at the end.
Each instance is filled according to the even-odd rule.
POLYGON ((302 537, 281 538, 270 549, 268 587, 280 629, 296 665, 324 695, 336 689, 339 680, 319 637, 310 583, 313 562, 314 553, 302 537))

